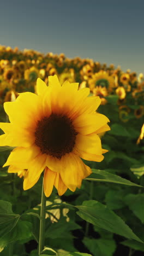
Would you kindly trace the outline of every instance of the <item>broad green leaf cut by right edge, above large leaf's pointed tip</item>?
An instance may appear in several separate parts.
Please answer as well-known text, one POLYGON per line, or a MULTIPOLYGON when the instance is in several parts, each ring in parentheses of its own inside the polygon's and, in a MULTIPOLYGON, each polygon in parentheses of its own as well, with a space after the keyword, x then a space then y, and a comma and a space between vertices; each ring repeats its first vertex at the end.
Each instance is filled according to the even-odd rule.
POLYGON ((129 194, 124 197, 124 201, 135 216, 144 223, 144 194, 129 194))

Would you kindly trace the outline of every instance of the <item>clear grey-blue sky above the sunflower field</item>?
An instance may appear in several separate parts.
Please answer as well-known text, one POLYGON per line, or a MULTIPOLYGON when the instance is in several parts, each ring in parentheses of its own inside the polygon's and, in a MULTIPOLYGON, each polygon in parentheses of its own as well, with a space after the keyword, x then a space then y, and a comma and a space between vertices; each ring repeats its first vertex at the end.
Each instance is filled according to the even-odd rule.
POLYGON ((144 73, 143 10, 143 0, 1 0, 0 44, 144 73))

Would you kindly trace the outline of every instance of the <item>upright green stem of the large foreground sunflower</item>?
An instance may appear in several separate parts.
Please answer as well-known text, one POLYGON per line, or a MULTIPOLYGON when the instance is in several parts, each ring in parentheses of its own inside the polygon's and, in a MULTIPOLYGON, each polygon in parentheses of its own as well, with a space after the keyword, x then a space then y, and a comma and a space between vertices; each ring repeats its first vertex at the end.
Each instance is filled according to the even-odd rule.
POLYGON ((44 194, 44 179, 43 187, 41 191, 41 210, 40 210, 40 230, 39 230, 39 255, 44 249, 45 240, 45 206, 46 206, 46 196, 44 194))

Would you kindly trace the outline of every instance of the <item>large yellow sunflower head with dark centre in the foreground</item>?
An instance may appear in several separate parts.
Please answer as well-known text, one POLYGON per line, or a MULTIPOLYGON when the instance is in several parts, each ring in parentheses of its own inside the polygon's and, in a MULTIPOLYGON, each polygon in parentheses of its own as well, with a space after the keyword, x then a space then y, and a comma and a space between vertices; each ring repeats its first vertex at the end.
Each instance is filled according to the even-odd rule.
POLYGON ((5 134, 0 146, 16 147, 4 166, 8 172, 27 169, 23 189, 37 183, 44 172, 44 192, 50 196, 53 185, 59 195, 67 188, 75 191, 82 179, 91 174, 83 163, 102 161, 99 133, 110 130, 109 119, 95 112, 99 97, 87 97, 89 89, 78 90, 78 83, 66 81, 62 86, 56 75, 49 86, 38 78, 37 94, 23 92, 15 102, 5 102, 10 123, 0 123, 5 134))

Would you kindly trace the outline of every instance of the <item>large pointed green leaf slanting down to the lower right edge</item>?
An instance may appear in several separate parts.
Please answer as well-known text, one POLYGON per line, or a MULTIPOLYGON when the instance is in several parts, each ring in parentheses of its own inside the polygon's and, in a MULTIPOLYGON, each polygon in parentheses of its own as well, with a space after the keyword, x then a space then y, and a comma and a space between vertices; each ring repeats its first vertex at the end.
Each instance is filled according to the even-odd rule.
POLYGON ((98 201, 84 201, 82 206, 76 206, 79 209, 77 214, 87 222, 108 230, 118 235, 142 242, 124 221, 113 211, 98 201))

